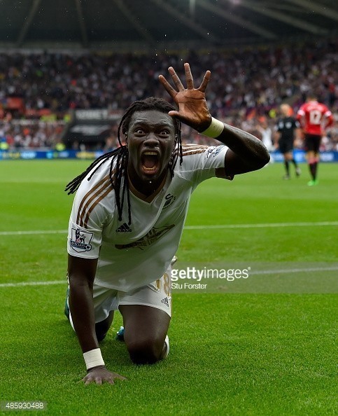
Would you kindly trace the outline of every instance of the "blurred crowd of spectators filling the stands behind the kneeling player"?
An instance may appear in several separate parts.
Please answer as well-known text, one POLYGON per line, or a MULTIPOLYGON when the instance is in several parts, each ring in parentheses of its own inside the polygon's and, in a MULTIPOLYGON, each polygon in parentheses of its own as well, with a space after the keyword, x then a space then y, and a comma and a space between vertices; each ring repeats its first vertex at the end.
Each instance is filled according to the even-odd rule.
MULTIPOLYGON (((167 76, 169 66, 183 75, 183 62, 190 62, 196 85, 211 69, 206 95, 213 116, 260 138, 266 124, 274 129, 282 102, 297 111, 309 93, 338 113, 338 39, 153 55, 1 53, 1 137, 15 147, 53 146, 62 138, 64 115, 73 109, 125 111, 136 99, 169 99, 158 75, 167 76), (13 97, 22 104, 8 110, 6 102, 13 97), (41 111, 54 114, 54 124, 14 123, 38 118, 41 111)), ((186 126, 183 139, 206 140, 186 126)), ((323 146, 338 150, 337 123, 323 146)))

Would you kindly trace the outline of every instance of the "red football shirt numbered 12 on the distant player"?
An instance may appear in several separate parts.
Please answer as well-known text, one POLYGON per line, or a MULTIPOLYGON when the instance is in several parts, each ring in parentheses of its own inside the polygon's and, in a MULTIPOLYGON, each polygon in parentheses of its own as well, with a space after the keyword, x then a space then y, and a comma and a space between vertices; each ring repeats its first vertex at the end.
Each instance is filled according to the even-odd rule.
POLYGON ((304 133, 321 136, 325 128, 333 123, 333 116, 325 104, 310 101, 300 107, 297 112, 297 120, 304 133))

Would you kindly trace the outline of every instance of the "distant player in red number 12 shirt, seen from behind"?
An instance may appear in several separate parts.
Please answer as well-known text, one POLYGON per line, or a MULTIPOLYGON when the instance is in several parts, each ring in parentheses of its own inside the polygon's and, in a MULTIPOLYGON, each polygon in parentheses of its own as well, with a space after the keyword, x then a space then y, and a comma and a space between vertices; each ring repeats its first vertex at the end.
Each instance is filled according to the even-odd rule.
POLYGON ((297 113, 303 132, 305 134, 305 151, 307 152, 307 163, 309 165, 311 181, 309 186, 318 183, 317 166, 319 162, 319 146, 326 127, 333 123, 331 111, 325 104, 321 104, 314 96, 309 96, 297 113))

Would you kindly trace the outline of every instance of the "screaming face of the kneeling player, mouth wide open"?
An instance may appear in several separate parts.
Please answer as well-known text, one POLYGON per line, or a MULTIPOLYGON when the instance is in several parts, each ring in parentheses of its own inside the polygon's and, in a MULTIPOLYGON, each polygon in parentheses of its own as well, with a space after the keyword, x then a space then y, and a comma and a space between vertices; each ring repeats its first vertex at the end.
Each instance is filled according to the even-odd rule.
POLYGON ((127 132, 128 173, 136 181, 163 179, 174 149, 174 120, 160 111, 136 111, 127 132))

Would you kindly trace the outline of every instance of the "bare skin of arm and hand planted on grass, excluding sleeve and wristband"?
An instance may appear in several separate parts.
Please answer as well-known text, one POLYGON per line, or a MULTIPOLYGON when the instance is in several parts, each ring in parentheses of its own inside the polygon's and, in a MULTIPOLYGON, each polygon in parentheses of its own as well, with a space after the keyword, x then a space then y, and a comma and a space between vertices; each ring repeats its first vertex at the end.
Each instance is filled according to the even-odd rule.
MULTIPOLYGON (((97 268, 97 259, 68 256, 69 278, 69 310, 73 327, 83 353, 99 349, 99 342, 95 333, 94 305, 92 288, 97 268)), ((103 361, 102 361, 103 362, 103 361)), ((104 363, 87 368, 87 375, 83 377, 85 384, 95 382, 113 384, 115 378, 125 380, 117 373, 111 373, 104 363)))

